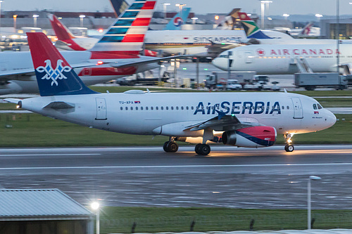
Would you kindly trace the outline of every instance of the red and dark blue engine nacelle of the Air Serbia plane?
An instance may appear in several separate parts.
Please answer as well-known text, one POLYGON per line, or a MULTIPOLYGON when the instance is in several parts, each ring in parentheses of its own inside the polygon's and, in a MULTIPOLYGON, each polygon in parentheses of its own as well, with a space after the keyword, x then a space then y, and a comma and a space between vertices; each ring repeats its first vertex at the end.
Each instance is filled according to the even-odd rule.
POLYGON ((239 147, 267 147, 275 144, 276 129, 272 126, 251 126, 235 131, 225 131, 222 143, 239 147))

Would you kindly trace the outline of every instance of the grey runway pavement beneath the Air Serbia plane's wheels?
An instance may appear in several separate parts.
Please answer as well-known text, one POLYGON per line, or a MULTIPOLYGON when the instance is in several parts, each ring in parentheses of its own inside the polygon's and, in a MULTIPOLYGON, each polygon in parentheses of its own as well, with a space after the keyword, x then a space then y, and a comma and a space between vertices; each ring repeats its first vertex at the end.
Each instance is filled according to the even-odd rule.
POLYGON ((249 149, 193 146, 0 149, 1 188, 59 188, 82 204, 153 207, 352 208, 352 145, 249 149))

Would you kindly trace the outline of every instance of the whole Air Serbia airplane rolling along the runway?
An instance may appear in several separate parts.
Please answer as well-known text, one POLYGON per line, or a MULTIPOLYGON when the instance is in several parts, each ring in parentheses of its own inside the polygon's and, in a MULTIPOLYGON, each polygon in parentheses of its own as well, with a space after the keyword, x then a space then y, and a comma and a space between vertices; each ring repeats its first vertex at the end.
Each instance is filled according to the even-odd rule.
POLYGON ((327 129, 336 117, 318 101, 295 93, 96 93, 75 74, 41 32, 27 33, 40 97, 7 98, 18 108, 67 122, 125 134, 163 135, 165 152, 176 141, 196 143, 208 155, 210 143, 260 148, 277 134, 291 136, 327 129), (56 72, 53 72, 54 67, 56 72))

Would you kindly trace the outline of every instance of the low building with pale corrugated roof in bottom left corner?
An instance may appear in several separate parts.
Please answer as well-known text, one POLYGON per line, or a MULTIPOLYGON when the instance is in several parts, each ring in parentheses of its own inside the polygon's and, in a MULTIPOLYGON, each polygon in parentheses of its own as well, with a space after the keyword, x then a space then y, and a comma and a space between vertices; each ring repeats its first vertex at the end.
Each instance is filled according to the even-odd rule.
POLYGON ((1 234, 92 234, 94 214, 58 189, 0 190, 1 234))

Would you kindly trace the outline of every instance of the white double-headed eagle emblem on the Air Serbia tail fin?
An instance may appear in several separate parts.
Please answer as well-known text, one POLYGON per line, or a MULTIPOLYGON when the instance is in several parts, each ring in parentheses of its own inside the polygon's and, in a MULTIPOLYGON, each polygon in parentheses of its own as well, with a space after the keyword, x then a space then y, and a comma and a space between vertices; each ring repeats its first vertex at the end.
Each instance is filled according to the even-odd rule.
POLYGON ((53 86, 54 84, 58 86, 58 79, 67 79, 63 72, 70 72, 72 70, 70 66, 63 66, 63 60, 61 59, 57 60, 55 69, 51 67, 51 60, 45 60, 44 63, 45 66, 37 67, 36 71, 40 73, 45 72, 46 74, 42 77, 42 79, 51 79, 51 86, 53 86))

